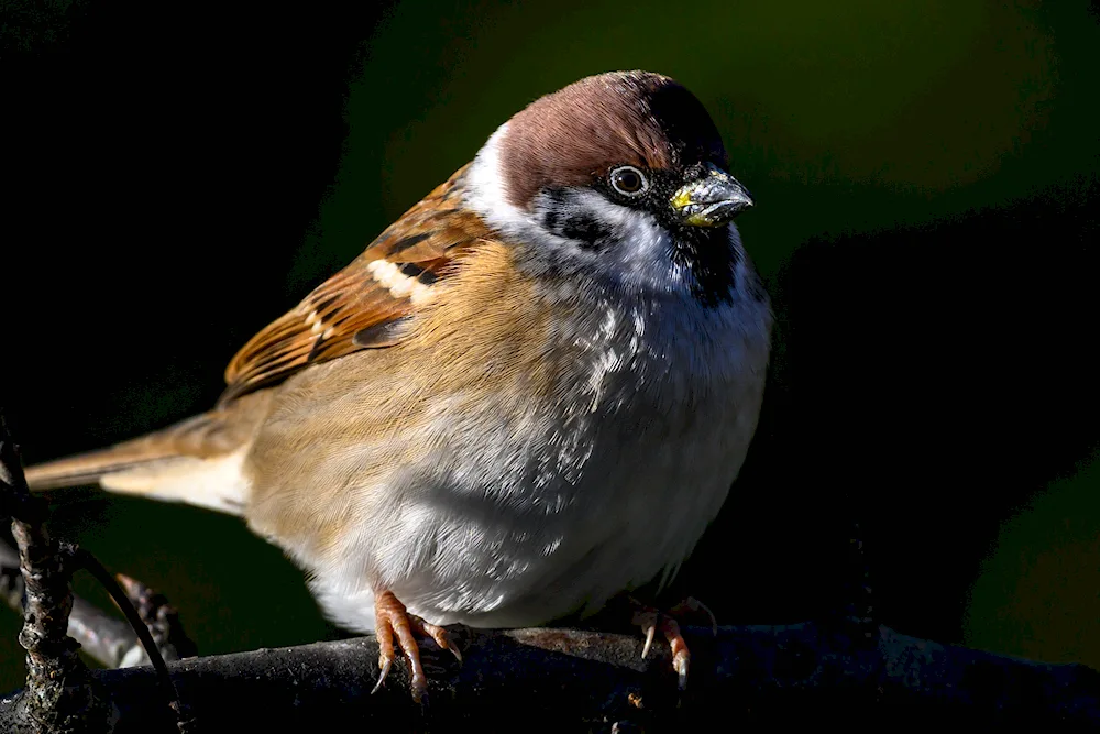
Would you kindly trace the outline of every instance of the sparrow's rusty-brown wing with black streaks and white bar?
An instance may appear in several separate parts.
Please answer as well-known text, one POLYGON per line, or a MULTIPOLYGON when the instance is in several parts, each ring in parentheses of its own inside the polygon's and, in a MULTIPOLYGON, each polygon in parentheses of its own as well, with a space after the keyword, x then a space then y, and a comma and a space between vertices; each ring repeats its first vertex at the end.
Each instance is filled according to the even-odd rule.
POLYGON ((295 372, 396 341, 454 258, 488 234, 462 208, 465 167, 389 226, 350 265, 254 336, 226 369, 224 405, 295 372))

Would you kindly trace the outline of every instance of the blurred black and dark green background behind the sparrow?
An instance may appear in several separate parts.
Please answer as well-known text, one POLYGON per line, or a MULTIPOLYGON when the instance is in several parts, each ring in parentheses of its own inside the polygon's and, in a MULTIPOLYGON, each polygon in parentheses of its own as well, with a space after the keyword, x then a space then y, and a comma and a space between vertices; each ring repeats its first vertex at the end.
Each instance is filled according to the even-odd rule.
MULTIPOLYGON (((352 4, 0 6, 0 403, 28 463, 208 408, 509 114, 642 67, 714 116, 779 317, 680 588, 724 624, 834 614, 858 523, 881 622, 1100 667, 1096 3, 352 4)), ((202 654, 340 634, 239 519, 57 499, 54 533, 167 593, 202 654)), ((18 628, 0 610, 0 690, 18 628)))

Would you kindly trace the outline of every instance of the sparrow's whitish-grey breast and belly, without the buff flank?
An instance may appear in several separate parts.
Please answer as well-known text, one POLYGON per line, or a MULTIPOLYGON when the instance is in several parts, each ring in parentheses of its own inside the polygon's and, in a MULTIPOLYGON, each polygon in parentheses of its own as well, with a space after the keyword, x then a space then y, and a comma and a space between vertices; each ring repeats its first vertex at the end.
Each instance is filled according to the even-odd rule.
POLYGON ((580 358, 546 399, 437 401, 437 448, 316 574, 328 613, 373 628, 373 584, 437 624, 528 626, 671 576, 756 428, 771 316, 749 277, 717 308, 605 300, 557 325, 580 358))

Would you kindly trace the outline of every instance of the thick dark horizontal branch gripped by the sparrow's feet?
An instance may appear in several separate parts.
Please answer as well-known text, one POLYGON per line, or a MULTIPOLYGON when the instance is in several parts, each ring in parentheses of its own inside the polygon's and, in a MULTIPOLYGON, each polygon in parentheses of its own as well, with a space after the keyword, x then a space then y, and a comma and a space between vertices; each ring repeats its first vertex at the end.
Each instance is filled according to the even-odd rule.
MULTIPOLYGON (((455 628, 465 662, 425 644, 428 703, 394 667, 375 695, 373 637, 170 664, 195 732, 316 726, 341 721, 399 730, 451 730, 463 721, 536 731, 649 731, 702 723, 776 724, 823 714, 895 725, 901 720, 1020 725, 1100 724, 1100 673, 939 645, 880 627, 867 645, 814 624, 692 628, 692 679, 678 700, 668 648, 641 659, 640 636, 571 629, 455 628)), ((862 637, 862 635, 858 635, 862 637)), ((170 731, 147 667, 92 671, 119 708, 117 732, 170 731), (161 726, 158 726, 158 724, 161 726), (132 727, 132 728, 131 728, 132 727)), ((0 728, 7 721, 0 701, 0 728)))

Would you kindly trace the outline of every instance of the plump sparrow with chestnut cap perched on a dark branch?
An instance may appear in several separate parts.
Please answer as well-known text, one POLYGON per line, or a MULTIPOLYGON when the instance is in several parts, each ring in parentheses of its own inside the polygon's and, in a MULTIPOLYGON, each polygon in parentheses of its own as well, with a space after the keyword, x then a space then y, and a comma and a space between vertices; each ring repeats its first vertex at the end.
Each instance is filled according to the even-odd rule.
POLYGON ((213 409, 28 481, 242 516, 420 700, 417 637, 667 583, 717 515, 770 350, 751 206, 686 88, 581 79, 255 335, 213 409))

